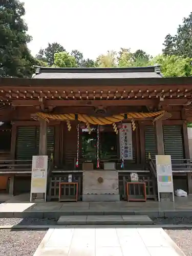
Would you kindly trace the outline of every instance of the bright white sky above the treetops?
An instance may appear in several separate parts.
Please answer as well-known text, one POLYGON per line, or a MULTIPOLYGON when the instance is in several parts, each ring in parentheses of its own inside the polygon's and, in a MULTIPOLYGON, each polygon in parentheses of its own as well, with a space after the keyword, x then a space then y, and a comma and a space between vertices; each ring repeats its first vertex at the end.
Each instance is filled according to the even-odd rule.
POLYGON ((23 0, 29 48, 35 55, 48 42, 96 58, 120 47, 161 53, 166 34, 192 11, 192 0, 23 0))

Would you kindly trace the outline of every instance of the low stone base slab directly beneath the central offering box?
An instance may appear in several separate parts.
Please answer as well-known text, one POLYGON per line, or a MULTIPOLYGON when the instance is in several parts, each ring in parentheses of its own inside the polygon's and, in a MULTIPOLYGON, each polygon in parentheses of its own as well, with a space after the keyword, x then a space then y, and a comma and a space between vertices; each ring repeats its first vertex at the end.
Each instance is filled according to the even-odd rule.
POLYGON ((120 195, 90 195, 84 194, 82 195, 82 201, 87 202, 115 202, 120 201, 120 195))

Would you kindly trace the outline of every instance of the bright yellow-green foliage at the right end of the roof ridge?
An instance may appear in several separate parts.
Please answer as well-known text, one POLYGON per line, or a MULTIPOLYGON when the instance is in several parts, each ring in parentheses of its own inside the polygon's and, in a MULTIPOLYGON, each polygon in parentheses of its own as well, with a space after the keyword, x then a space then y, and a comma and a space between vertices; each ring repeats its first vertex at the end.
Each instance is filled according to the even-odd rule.
POLYGON ((164 77, 191 76, 190 58, 180 56, 158 55, 151 60, 151 65, 161 65, 161 73, 164 77))

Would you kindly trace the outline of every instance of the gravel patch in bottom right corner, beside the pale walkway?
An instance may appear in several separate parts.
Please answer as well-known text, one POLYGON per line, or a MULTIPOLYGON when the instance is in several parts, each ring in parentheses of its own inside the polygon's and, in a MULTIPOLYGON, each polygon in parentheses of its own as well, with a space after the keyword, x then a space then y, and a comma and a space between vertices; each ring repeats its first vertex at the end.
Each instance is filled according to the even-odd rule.
POLYGON ((179 246, 186 256, 192 256, 192 230, 165 230, 170 238, 179 246))

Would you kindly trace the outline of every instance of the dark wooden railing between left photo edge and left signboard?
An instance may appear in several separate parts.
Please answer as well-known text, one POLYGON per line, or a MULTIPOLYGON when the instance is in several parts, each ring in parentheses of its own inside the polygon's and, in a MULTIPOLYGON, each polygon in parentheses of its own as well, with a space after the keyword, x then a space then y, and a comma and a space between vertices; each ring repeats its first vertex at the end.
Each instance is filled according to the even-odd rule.
POLYGON ((0 160, 0 173, 31 172, 32 160, 0 160))

